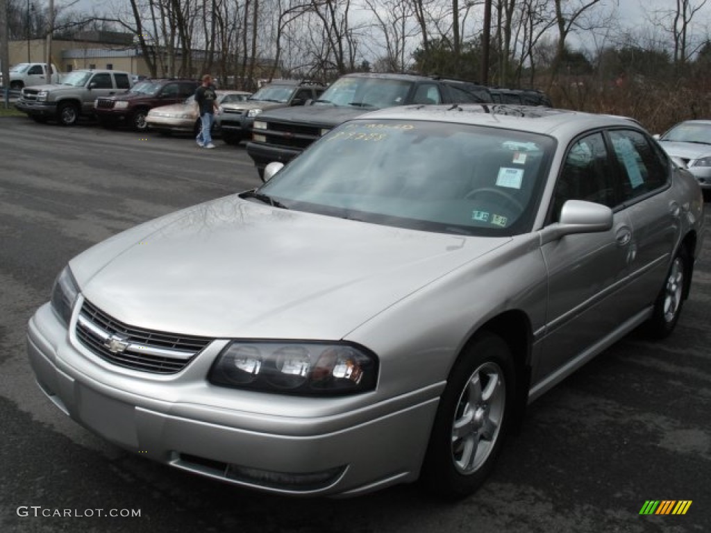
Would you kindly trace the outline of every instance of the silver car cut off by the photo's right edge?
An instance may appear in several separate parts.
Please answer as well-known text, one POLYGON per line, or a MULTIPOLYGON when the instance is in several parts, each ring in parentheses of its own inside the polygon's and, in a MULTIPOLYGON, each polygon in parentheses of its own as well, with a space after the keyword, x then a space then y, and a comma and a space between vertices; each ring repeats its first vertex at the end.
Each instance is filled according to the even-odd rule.
POLYGON ((711 120, 687 120, 658 138, 659 144, 704 189, 711 190, 711 120))

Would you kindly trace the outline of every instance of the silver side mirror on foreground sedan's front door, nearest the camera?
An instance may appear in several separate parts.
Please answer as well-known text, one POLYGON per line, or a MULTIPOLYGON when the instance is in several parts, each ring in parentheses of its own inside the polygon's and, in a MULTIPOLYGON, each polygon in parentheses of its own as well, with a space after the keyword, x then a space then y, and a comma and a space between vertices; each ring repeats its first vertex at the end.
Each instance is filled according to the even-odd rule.
POLYGON ((568 200, 560 210, 560 220, 540 232, 540 244, 565 235, 606 232, 612 227, 612 210, 606 205, 584 200, 568 200))

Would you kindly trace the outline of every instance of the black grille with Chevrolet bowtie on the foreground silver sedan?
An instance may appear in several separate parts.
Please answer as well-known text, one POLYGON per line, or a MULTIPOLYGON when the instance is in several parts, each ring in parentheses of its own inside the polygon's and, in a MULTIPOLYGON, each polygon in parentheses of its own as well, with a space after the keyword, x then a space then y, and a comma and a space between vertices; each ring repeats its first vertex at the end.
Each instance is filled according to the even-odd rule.
POLYGON ((212 339, 135 328, 85 300, 77 320, 77 339, 93 354, 119 367, 175 374, 212 339))

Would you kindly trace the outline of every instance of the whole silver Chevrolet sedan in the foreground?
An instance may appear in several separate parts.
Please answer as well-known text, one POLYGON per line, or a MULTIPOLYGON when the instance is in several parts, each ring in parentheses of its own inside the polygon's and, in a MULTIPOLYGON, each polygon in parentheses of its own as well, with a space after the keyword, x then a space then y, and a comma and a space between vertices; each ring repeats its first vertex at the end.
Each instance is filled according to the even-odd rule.
POLYGON ((629 119, 398 107, 280 166, 70 260, 28 330, 61 411, 258 490, 463 497, 528 402, 672 332, 702 247, 698 183, 629 119))

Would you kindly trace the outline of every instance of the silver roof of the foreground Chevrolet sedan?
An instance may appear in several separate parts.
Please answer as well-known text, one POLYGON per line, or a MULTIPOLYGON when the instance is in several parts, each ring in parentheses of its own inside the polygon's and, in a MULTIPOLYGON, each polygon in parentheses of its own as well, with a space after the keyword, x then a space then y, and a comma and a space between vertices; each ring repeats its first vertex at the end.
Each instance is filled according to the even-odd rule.
POLYGON ((546 135, 574 135, 580 131, 609 126, 634 126, 627 117, 592 114, 569 109, 510 104, 447 104, 388 107, 361 115, 358 119, 422 120, 495 126, 546 135))

